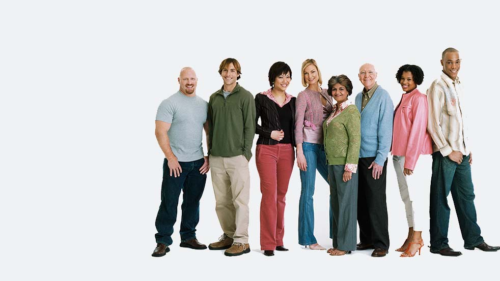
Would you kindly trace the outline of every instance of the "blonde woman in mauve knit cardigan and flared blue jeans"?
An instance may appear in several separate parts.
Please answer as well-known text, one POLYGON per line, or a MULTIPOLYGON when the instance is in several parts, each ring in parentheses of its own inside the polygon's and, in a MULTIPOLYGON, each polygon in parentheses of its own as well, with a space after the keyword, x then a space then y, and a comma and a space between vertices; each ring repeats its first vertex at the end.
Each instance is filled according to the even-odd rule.
POLYGON ((306 88, 297 96, 294 131, 297 166, 300 169, 302 183, 299 201, 298 242, 311 249, 325 249, 318 244, 316 237, 314 237, 313 195, 316 170, 328 182, 328 169, 323 146, 323 122, 330 115, 334 104, 326 89, 321 88, 323 81, 316 60, 306 59, 302 63, 301 75, 302 85, 306 88))

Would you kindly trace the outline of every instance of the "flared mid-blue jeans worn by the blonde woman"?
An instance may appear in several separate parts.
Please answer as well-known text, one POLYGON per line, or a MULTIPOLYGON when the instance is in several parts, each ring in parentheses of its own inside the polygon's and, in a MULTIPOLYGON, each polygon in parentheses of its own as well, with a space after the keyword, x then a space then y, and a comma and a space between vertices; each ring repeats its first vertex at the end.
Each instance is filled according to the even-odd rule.
MULTIPOLYGON (((302 189, 300 191, 299 211, 298 211, 298 243, 300 245, 311 245, 317 243, 314 237, 314 185, 316 181, 316 170, 328 184, 328 166, 326 165, 325 147, 323 144, 302 143, 307 171, 300 170, 300 181, 302 189)), ((326 188, 326 186, 325 186, 326 188)), ((329 235, 331 235, 332 213, 330 206, 329 235)))

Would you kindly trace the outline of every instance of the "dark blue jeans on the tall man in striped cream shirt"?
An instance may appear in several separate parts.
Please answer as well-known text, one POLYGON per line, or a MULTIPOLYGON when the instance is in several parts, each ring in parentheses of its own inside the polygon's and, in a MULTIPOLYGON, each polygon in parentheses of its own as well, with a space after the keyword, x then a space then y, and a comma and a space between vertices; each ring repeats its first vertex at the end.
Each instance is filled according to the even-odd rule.
POLYGON ((439 251, 449 247, 448 224, 450 207, 448 194, 452 193, 464 247, 473 247, 484 242, 481 229, 476 223, 474 206, 474 185, 470 175, 469 155, 457 164, 441 152, 432 154, 432 177, 430 194, 430 236, 431 250, 439 251))

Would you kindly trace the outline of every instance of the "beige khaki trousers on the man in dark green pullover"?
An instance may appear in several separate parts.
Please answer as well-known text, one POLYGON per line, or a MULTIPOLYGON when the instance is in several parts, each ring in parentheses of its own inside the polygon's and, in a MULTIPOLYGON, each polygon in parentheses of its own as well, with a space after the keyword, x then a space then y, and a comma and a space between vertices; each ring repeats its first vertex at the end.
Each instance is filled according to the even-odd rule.
POLYGON ((250 171, 243 155, 210 155, 215 212, 220 227, 234 242, 248 243, 250 171))

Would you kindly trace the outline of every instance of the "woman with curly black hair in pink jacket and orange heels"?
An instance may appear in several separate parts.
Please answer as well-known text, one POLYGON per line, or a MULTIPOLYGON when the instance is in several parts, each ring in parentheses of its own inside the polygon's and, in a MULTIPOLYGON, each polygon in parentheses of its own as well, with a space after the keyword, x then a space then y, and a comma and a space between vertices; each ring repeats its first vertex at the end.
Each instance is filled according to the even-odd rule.
POLYGON ((424 72, 418 66, 404 65, 399 68, 396 79, 405 92, 394 111, 392 154, 408 221, 408 237, 396 251, 403 252, 401 257, 413 257, 416 252, 420 255, 424 245, 422 230, 429 222, 429 208, 426 208, 429 184, 417 180, 429 177, 415 178, 412 174, 415 170, 424 171, 417 161, 420 154, 432 153, 432 141, 427 133, 427 97, 416 88, 422 84, 424 72))

